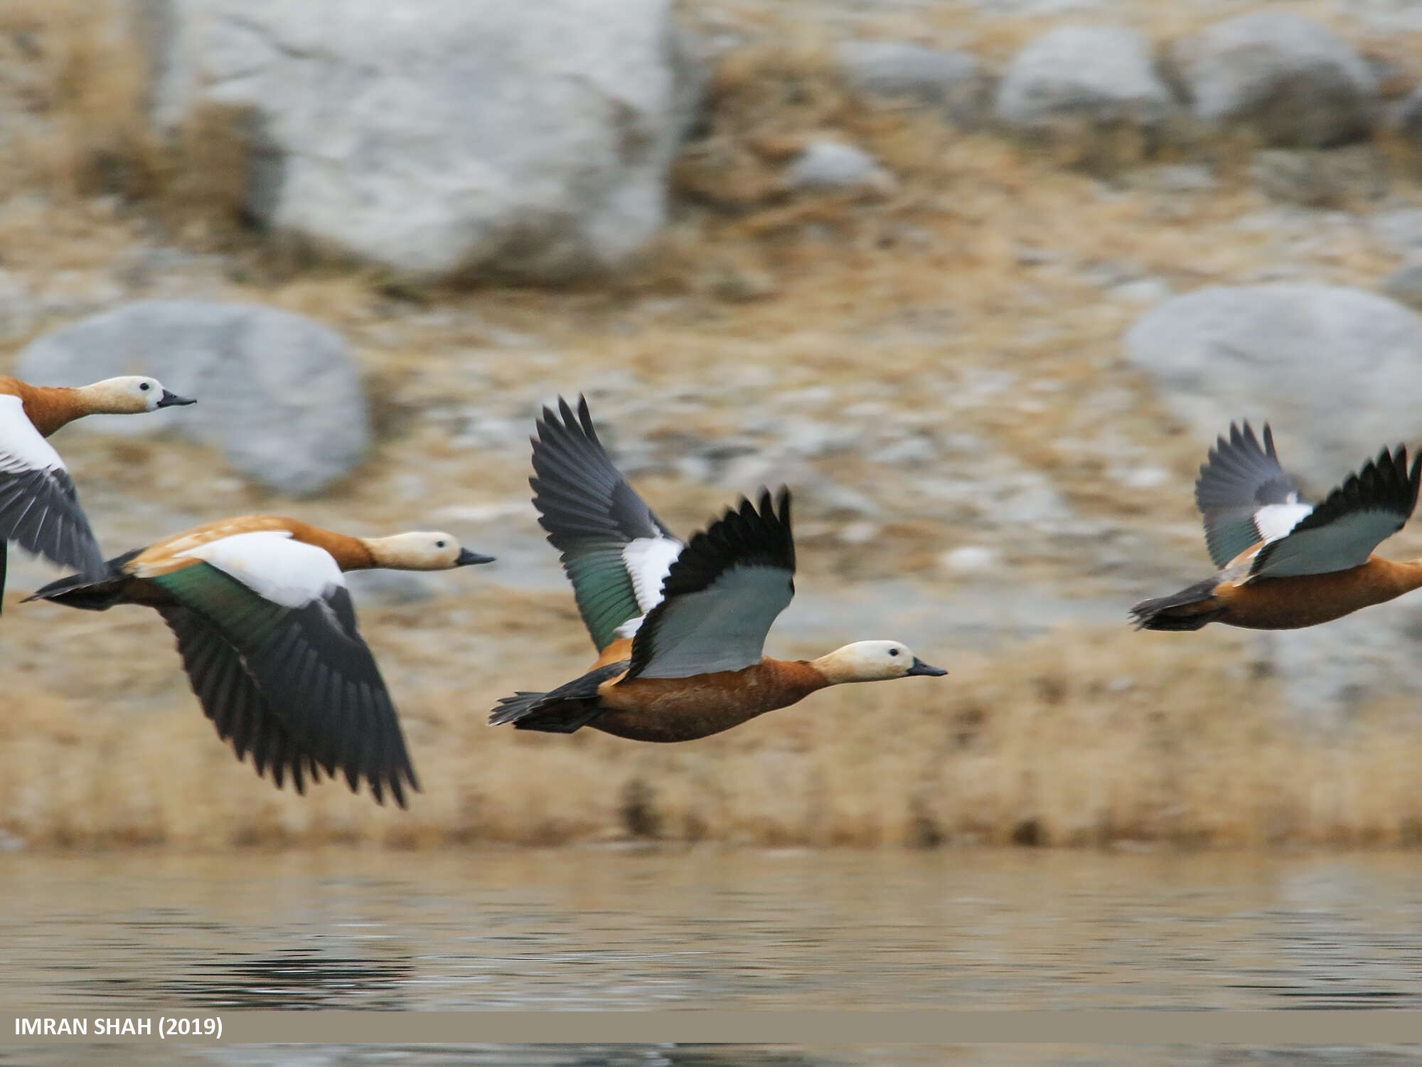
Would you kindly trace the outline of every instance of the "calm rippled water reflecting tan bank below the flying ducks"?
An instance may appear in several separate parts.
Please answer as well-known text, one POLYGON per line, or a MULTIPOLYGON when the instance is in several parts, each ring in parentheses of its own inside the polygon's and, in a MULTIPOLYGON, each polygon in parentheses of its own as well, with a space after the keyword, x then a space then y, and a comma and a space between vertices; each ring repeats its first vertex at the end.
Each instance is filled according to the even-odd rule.
MULTIPOLYGON (((1422 855, 1405 852, 11 852, 0 855, 0 1003, 24 1012, 137 1010, 152 1002, 405 1010, 1422 1007, 1419 875, 1422 855)), ((0 1049, 0 1063, 73 1056, 55 1058, 58 1051, 18 1060, 0 1049)), ((137 1063, 134 1051, 115 1049, 122 1056, 112 1061, 137 1063)), ((522 1050, 523 1058, 418 1049, 378 1060, 358 1050, 297 1051, 164 1054, 253 1064, 944 1061, 934 1058, 943 1050, 920 1060, 913 1057, 929 1053, 904 1049, 547 1047, 522 1050)), ((1102 1058, 1045 1047, 958 1053, 951 1061, 1102 1058)), ((1231 1061, 1163 1054, 1136 1050, 1119 1061, 1231 1061)), ((1287 1061, 1313 1061, 1300 1056, 1294 1050, 1287 1061)), ((1419 1061, 1408 1050, 1372 1057, 1419 1061)), ((1338 1061, 1358 1061, 1358 1050, 1338 1061)))

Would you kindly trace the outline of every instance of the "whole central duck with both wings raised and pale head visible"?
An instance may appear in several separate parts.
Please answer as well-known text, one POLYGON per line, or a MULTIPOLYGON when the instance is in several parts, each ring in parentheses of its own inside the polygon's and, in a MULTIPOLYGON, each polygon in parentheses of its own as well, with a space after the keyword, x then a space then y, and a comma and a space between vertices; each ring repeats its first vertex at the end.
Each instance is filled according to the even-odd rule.
POLYGON ((563 553, 597 646, 587 674, 499 701, 491 724, 634 741, 690 741, 846 681, 946 674, 900 642, 856 642, 816 660, 762 654, 795 593, 791 495, 741 501, 683 545, 603 451, 587 401, 545 408, 533 504, 563 553))

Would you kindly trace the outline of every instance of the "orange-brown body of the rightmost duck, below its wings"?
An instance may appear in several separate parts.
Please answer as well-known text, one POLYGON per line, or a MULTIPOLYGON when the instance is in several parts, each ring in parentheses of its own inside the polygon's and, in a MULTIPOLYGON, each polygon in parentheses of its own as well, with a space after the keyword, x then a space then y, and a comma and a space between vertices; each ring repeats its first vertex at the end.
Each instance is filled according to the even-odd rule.
POLYGON ((1398 562, 1369 556, 1362 566, 1327 575, 1260 578, 1243 585, 1224 580, 1212 598, 1172 610, 1199 615, 1224 609, 1217 622, 1254 630, 1293 630, 1340 619, 1385 603, 1413 589, 1422 589, 1422 561, 1398 562))

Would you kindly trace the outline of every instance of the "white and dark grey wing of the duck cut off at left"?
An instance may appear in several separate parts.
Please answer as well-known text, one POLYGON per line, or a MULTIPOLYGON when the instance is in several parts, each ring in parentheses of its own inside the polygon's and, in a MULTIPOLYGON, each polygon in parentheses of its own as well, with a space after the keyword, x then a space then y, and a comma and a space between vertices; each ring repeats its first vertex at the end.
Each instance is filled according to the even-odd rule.
POLYGON ((85 575, 104 573, 104 553, 64 461, 30 423, 20 397, 0 396, 0 552, 7 541, 85 575))

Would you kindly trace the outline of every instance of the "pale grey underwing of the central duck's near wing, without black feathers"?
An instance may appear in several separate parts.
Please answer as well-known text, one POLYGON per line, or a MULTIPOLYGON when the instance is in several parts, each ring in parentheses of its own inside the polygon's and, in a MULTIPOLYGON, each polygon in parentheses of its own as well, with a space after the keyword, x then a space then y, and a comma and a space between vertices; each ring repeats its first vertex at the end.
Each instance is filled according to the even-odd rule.
POLYGON ((792 596, 789 572, 737 566, 701 592, 673 598, 661 609, 651 659, 638 677, 685 679, 759 663, 765 635, 792 596))

